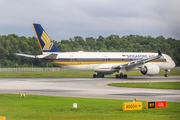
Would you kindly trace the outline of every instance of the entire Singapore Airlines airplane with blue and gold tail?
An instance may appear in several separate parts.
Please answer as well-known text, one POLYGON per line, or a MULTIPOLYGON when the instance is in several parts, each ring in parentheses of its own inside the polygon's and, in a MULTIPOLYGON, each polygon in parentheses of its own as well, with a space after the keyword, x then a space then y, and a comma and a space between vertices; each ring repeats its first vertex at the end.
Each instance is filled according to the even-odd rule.
POLYGON ((57 66, 97 72, 93 78, 104 78, 104 75, 118 72, 116 78, 127 78, 126 71, 140 70, 143 75, 157 75, 159 71, 168 71, 175 67, 170 56, 157 53, 139 52, 60 52, 40 24, 33 24, 39 42, 41 55, 27 55, 19 50, 16 55, 41 59, 57 66))

